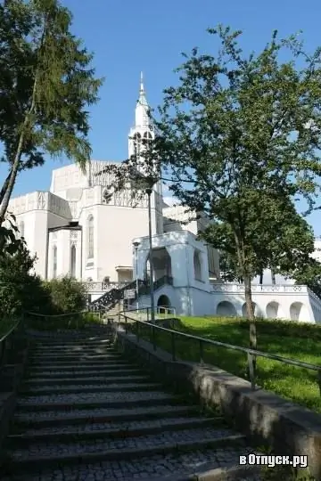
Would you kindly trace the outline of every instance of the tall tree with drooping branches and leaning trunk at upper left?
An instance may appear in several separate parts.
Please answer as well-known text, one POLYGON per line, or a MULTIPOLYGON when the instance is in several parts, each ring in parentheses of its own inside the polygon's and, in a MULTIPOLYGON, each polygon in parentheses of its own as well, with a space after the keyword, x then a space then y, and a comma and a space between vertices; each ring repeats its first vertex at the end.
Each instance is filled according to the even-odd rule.
POLYGON ((84 169, 90 158, 86 107, 102 79, 93 55, 70 32, 59 0, 10 0, 0 5, 0 142, 8 175, 0 191, 0 225, 16 176, 65 154, 84 169))

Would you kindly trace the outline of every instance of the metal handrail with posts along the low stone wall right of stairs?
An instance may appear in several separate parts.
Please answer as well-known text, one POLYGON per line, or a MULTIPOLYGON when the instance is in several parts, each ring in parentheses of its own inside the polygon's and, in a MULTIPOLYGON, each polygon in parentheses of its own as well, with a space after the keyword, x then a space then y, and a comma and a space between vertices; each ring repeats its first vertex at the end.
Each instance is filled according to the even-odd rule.
MULTIPOLYGON (((171 335, 171 338, 172 338, 171 355, 172 355, 173 361, 177 360, 176 359, 176 353, 175 353, 176 337, 190 338, 190 339, 193 339, 193 340, 199 342, 201 363, 203 363, 203 346, 205 344, 211 345, 211 346, 226 347, 227 349, 233 349, 235 351, 240 351, 240 352, 243 352, 243 353, 247 354, 251 388, 253 390, 255 389, 255 359, 256 359, 256 357, 265 357, 266 359, 271 359, 273 361, 279 361, 280 363, 289 364, 289 365, 293 365, 293 366, 301 367, 301 368, 306 368, 306 369, 309 369, 311 371, 317 371, 317 382, 318 382, 318 385, 319 385, 320 395, 321 395, 321 366, 317 366, 316 364, 302 363, 300 361, 293 361, 292 359, 288 359, 287 357, 283 357, 281 355, 271 355, 271 354, 265 353, 263 351, 259 351, 257 349, 251 349, 250 347, 235 346, 233 344, 227 344, 225 342, 215 341, 215 340, 207 339, 207 338, 201 338, 199 336, 193 336, 193 334, 186 334, 185 332, 180 332, 178 330, 172 330, 172 329, 169 329, 169 328, 164 328, 164 327, 159 326, 157 324, 154 324, 152 322, 146 322, 146 321, 140 321, 138 319, 133 319, 130 316, 128 316, 126 312, 120 312, 119 317, 120 316, 123 316, 125 318, 125 326, 126 326, 125 330, 126 330, 126 332, 127 332, 127 320, 128 319, 136 322, 137 332, 139 330, 138 329, 139 323, 150 326, 152 328, 152 345, 153 345, 153 349, 155 351, 157 350, 156 339, 155 339, 155 330, 162 330, 164 332, 169 332, 169 334, 171 335)), ((139 336, 137 336, 137 338, 139 338, 139 336)))

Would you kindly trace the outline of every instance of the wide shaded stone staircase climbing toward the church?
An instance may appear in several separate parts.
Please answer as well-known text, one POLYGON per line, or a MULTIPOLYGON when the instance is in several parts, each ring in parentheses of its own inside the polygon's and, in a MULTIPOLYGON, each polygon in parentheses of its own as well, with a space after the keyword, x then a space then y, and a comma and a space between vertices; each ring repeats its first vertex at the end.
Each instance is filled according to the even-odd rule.
POLYGON ((253 452, 243 436, 165 392, 103 332, 33 344, 2 481, 261 479, 238 466, 253 452))

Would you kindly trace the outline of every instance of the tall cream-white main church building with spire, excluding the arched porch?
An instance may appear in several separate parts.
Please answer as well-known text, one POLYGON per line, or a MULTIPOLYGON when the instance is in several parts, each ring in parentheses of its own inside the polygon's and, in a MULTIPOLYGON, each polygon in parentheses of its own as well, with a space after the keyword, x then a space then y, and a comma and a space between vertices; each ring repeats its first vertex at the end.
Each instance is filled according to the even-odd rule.
MULTIPOLYGON (((148 109, 141 78, 135 125, 128 135, 128 158, 144 149, 143 139, 154 138, 148 109)), ((31 192, 10 201, 8 210, 15 214, 31 254, 37 255, 35 270, 42 278, 70 274, 95 282, 133 279, 132 241, 148 234, 148 199, 133 199, 128 189, 106 200, 112 175, 104 169, 110 164, 92 160, 85 173, 77 165, 57 168, 49 192, 31 192)), ((177 225, 170 227, 168 216, 164 218, 168 206, 161 183, 154 186, 151 205, 152 234, 164 231, 164 220, 167 231, 174 230, 177 225)), ((179 208, 177 213, 175 208, 168 210, 176 219, 183 216, 179 208)), ((193 232, 197 233, 195 225, 193 232)), ((219 273, 214 249, 210 249, 210 266, 219 273)))

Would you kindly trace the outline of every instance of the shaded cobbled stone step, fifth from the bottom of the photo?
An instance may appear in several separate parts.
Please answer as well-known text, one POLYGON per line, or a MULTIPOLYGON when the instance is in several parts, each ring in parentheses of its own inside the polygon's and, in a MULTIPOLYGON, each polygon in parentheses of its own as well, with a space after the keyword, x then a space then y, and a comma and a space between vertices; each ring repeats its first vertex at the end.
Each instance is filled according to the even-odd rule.
POLYGON ((115 391, 108 393, 29 395, 20 397, 17 408, 23 411, 63 411, 90 409, 95 407, 127 407, 160 404, 177 404, 180 401, 173 395, 161 391, 133 392, 115 391))

